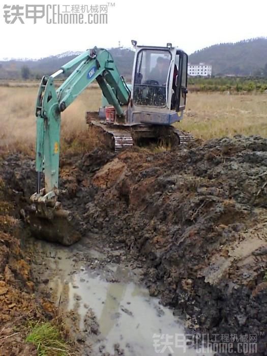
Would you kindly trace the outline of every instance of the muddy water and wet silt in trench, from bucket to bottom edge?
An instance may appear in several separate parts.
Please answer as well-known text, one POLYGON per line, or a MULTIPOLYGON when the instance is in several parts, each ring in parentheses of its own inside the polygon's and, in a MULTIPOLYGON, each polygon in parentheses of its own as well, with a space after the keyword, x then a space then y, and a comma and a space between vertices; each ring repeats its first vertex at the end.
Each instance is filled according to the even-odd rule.
POLYGON ((65 248, 35 241, 34 249, 43 256, 43 278, 49 280, 53 300, 60 308, 75 311, 92 354, 113 354, 114 344, 118 344, 127 356, 212 355, 185 345, 183 323, 139 284, 138 269, 115 263, 105 250, 87 250, 82 244, 65 248), (165 350, 163 334, 170 336, 165 350))

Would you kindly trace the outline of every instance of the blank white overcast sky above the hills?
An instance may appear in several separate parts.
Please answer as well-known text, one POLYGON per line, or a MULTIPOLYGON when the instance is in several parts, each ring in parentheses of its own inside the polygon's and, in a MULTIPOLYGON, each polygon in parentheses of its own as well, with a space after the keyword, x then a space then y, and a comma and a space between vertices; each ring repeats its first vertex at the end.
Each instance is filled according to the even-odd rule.
MULTIPOLYGON (((57 12, 56 6, 54 9, 57 12)), ((0 58, 41 58, 94 46, 117 47, 119 41, 122 46, 131 47, 132 39, 140 45, 165 46, 170 42, 190 54, 217 43, 267 37, 266 13, 266 0, 48 0, 48 3, 44 0, 3 0, 0 5, 0 58), (21 19, 24 24, 15 19, 13 5, 23 7, 21 19), (34 24, 33 18, 25 18, 26 5, 39 5, 39 10, 42 9, 40 5, 51 6, 45 7, 44 17, 36 19, 34 24), (65 17, 78 9, 85 19, 88 18, 87 10, 92 13, 91 6, 97 5, 99 11, 100 5, 107 5, 107 23, 47 23, 47 20, 52 21, 52 5, 60 6, 60 12, 66 11, 65 17), (4 11, 11 16, 5 18, 4 11), (6 23, 6 20, 15 22, 6 23)), ((90 21, 94 21, 93 16, 90 21)), ((54 19, 58 21, 57 15, 54 19)))

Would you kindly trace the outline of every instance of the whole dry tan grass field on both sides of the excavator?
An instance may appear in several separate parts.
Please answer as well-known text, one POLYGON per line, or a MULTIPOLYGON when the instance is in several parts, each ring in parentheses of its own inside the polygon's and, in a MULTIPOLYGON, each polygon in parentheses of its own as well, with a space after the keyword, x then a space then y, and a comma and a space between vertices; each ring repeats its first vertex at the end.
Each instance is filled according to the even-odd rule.
MULTIPOLYGON (((0 87, 1 147, 33 152, 37 87, 0 87)), ((71 139, 86 131, 85 112, 98 110, 101 91, 93 87, 62 113, 62 137, 71 139)), ((189 93, 184 119, 177 124, 195 137, 267 137, 267 94, 226 95, 189 93)))

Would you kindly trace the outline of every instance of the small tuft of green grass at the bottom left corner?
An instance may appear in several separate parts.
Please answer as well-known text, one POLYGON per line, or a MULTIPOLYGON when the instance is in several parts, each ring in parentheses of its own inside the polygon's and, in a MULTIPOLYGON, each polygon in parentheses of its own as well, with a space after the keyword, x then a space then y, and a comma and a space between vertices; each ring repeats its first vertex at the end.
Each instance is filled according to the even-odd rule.
POLYGON ((38 356, 67 356, 70 354, 67 343, 63 340, 60 331, 49 322, 30 323, 31 332, 26 342, 37 347, 38 356))

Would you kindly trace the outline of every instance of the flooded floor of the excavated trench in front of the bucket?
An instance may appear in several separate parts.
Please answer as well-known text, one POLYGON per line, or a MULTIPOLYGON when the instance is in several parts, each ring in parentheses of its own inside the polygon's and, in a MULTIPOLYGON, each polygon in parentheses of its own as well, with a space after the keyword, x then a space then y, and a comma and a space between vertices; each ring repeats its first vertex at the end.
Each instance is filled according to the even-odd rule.
MULTIPOLYGON (((140 283, 141 264, 128 259, 123 249, 101 246, 98 235, 87 239, 72 247, 23 241, 23 249, 32 256, 38 298, 49 298, 67 311, 71 335, 82 354, 154 355, 156 335, 186 338, 184 320, 140 283)), ((206 347, 201 350, 213 355, 206 347)), ((161 354, 168 356, 170 351, 166 348, 161 354)), ((184 354, 196 356, 199 350, 188 342, 184 354)))

